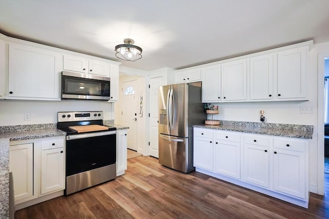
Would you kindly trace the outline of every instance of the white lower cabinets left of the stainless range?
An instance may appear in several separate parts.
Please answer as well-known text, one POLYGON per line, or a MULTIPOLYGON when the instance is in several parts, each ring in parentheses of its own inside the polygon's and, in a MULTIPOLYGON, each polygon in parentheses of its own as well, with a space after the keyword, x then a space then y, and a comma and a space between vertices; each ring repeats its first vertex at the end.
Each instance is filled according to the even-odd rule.
POLYGON ((15 209, 64 194, 65 136, 10 142, 15 209))

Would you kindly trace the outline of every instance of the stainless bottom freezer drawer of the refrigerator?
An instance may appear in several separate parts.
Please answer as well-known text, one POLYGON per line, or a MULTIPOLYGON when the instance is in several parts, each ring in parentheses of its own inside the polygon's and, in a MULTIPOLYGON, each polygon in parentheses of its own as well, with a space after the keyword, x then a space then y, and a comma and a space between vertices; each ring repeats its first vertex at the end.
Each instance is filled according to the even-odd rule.
POLYGON ((188 146, 188 138, 159 134, 159 163, 181 172, 190 172, 192 161, 188 146))

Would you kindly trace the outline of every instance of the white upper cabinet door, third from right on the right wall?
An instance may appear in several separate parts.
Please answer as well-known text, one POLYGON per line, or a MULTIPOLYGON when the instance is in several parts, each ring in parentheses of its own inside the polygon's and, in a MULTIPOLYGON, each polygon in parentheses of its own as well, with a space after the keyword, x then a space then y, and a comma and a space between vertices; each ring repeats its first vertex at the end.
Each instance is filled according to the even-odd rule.
POLYGON ((246 59, 223 64, 222 96, 224 101, 247 99, 246 59))

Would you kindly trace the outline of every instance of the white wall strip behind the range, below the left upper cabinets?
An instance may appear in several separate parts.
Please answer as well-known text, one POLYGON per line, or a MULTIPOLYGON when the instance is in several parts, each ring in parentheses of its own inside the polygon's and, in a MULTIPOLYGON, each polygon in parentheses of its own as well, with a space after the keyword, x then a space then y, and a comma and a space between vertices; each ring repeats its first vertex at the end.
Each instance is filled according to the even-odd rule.
POLYGON ((106 101, 18 101, 0 100, 0 126, 57 123, 57 112, 103 111, 104 120, 113 120, 112 103, 106 101), (24 121, 24 113, 31 114, 24 121))

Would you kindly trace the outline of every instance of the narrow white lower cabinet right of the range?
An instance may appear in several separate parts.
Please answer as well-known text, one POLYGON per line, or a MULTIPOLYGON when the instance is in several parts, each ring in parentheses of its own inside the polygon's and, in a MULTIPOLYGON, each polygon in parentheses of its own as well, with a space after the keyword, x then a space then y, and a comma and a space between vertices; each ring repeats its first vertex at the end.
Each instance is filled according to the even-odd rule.
POLYGON ((117 130, 117 176, 127 169, 127 130, 117 130))

